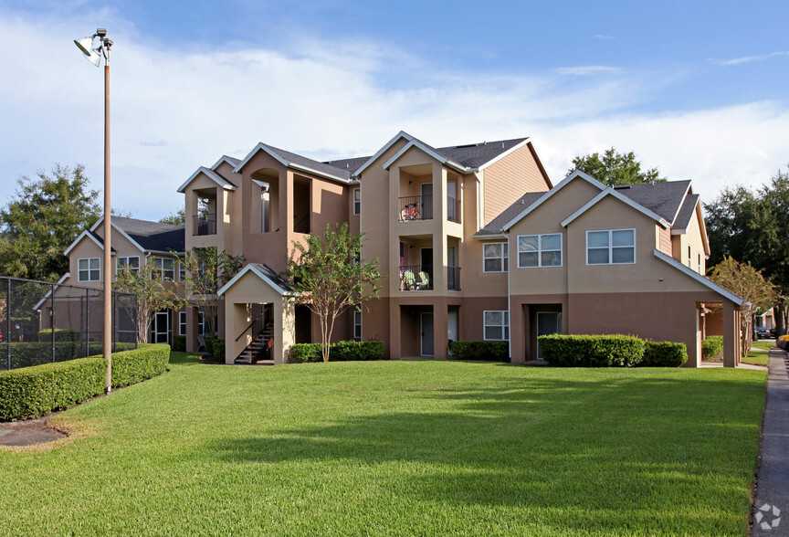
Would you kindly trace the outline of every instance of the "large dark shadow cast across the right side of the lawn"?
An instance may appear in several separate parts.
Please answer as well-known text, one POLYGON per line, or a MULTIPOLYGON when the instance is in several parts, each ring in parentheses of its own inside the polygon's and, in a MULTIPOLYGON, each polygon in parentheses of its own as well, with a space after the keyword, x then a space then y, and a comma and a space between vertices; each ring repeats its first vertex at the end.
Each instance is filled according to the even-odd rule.
POLYGON ((230 463, 312 462, 318 473, 324 462, 362 466, 376 489, 524 509, 546 531, 742 532, 763 405, 751 387, 623 376, 412 389, 420 411, 327 416, 225 437, 208 452, 230 463))

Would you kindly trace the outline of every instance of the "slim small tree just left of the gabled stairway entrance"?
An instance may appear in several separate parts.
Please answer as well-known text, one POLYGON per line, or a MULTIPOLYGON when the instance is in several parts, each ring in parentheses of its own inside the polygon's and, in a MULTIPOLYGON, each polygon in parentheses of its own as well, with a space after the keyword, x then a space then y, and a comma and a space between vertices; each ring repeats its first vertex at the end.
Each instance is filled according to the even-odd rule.
POLYGON ((186 296, 197 304, 205 318, 205 333, 215 337, 219 312, 217 292, 244 266, 244 255, 231 256, 216 247, 195 247, 186 252, 181 262, 186 270, 186 296))

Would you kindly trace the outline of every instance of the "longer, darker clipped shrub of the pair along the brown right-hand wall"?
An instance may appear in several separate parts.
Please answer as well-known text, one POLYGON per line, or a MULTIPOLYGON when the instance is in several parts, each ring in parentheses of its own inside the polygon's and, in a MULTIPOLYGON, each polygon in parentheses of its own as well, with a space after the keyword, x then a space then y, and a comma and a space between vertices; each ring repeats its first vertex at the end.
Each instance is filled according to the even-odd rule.
POLYGON ((626 335, 540 336, 546 362, 563 367, 630 367, 644 358, 646 342, 626 335))

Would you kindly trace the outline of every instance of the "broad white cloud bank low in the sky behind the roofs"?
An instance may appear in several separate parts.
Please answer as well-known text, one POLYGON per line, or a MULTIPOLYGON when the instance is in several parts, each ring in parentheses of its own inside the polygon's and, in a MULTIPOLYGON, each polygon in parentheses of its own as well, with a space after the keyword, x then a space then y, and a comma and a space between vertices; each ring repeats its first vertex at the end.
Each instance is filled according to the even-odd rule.
MULTIPOLYGON (((181 51, 100 20, 115 40, 112 205, 142 218, 183 205, 175 189, 198 166, 243 157, 260 141, 328 160, 374 153, 401 129, 435 146, 531 135, 556 182, 573 156, 614 145, 669 178, 694 179, 708 199, 726 182, 766 181, 789 155, 789 115, 776 103, 625 113, 670 84, 665 76, 605 66, 469 76, 374 42, 181 51), (595 73, 615 76, 565 77, 595 73)), ((85 163, 100 187, 101 71, 71 42, 81 37, 73 28, 91 25, 0 16, 0 205, 16 177, 56 162, 85 163)))

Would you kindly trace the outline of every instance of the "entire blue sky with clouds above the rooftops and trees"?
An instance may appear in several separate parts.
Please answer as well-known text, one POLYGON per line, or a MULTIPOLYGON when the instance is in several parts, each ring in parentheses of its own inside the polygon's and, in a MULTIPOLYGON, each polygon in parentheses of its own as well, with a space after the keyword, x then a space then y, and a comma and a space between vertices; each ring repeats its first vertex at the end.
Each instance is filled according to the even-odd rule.
POLYGON ((22 174, 101 185, 101 76, 71 40, 106 26, 113 201, 158 219, 221 154, 321 160, 405 130, 435 145, 531 136, 554 182, 635 151, 707 200, 789 162, 786 2, 0 4, 0 203, 22 174), (91 70, 92 69, 92 70, 91 70))

